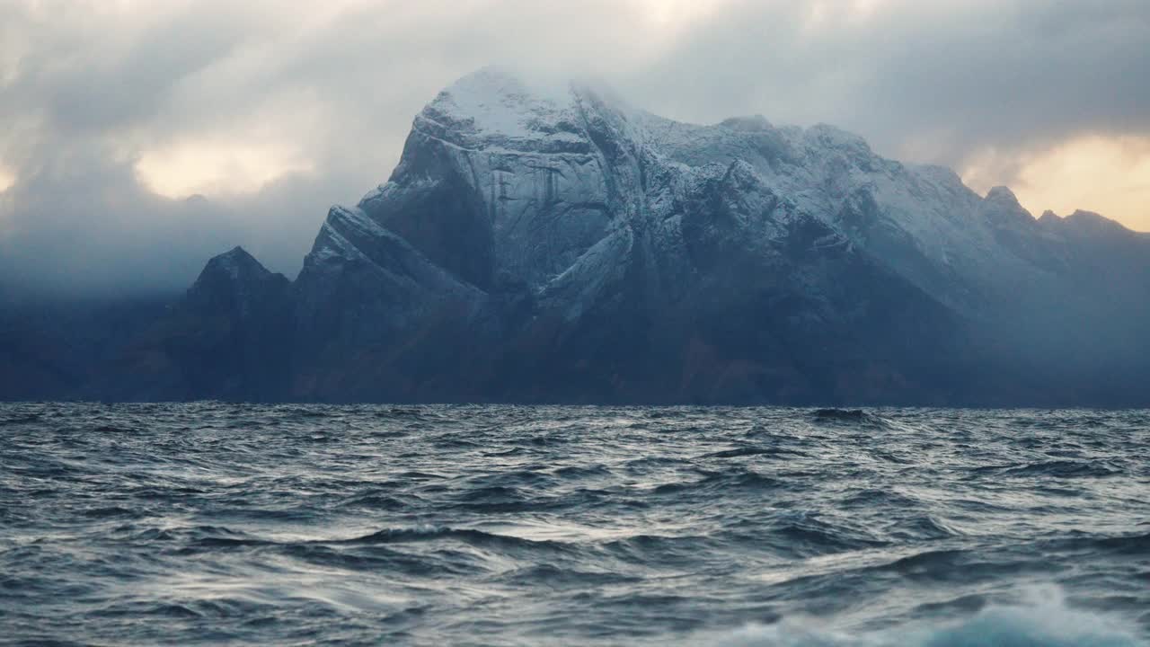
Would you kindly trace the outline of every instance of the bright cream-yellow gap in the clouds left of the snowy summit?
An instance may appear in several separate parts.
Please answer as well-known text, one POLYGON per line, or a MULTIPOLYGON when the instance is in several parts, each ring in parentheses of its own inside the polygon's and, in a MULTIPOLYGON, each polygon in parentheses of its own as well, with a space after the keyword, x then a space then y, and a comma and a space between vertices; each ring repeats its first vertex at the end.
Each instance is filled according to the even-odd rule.
POLYGON ((308 170, 312 165, 289 151, 213 142, 145 152, 136 163, 139 178, 169 198, 251 193, 289 173, 308 170))

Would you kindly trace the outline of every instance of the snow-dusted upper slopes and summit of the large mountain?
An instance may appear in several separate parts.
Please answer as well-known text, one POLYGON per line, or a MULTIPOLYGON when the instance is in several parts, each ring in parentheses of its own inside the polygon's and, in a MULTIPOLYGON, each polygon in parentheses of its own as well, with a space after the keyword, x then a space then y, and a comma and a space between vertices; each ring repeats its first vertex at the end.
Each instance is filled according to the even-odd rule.
MULTIPOLYGON (((781 201, 773 218, 818 219, 965 312, 1052 268, 1004 242, 994 208, 952 172, 883 159, 834 127, 776 128, 761 116, 680 123, 610 91, 531 84, 496 68, 463 77, 416 116, 391 181, 359 206, 481 289, 501 276, 542 292, 620 228, 642 227, 665 253, 682 253, 684 201, 729 172, 746 196, 781 201), (415 206, 429 201, 436 213, 415 206), (459 228, 471 238, 466 249, 448 242, 459 228)), ((1030 236, 1033 220, 1011 227, 1030 236)), ((760 219, 746 234, 769 246, 785 230, 777 224, 760 219)))

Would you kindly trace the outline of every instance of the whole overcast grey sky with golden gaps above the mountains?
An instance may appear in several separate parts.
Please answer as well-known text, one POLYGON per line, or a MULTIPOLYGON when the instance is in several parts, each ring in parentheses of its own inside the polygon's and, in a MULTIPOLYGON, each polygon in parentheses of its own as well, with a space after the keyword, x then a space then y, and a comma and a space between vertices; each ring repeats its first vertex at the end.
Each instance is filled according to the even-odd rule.
POLYGON ((0 277, 182 288, 235 244, 294 275, 490 63, 680 120, 834 123, 1150 230, 1145 0, 0 0, 0 277))

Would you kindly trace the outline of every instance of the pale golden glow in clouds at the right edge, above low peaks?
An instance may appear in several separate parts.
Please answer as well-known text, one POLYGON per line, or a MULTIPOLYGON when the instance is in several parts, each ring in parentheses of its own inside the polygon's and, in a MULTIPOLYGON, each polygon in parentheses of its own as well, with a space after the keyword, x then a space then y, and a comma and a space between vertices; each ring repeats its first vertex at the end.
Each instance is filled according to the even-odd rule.
POLYGON ((1036 216, 1045 210, 1058 215, 1084 210, 1150 231, 1150 137, 1082 136, 1013 163, 1014 178, 1003 177, 1003 155, 989 151, 963 178, 979 192, 1010 185, 1036 216))

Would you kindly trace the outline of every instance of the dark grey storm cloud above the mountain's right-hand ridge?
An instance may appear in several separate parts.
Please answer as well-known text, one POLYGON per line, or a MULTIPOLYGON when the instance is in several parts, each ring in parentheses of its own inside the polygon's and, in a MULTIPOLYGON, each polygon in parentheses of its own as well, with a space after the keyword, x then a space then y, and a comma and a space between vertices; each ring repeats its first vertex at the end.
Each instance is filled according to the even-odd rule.
POLYGON ((923 153, 950 165, 986 145, 1150 131, 1150 3, 826 5, 814 24, 807 5, 733 6, 658 62, 673 75, 636 83, 683 116, 829 121, 890 153, 935 140, 923 153))

